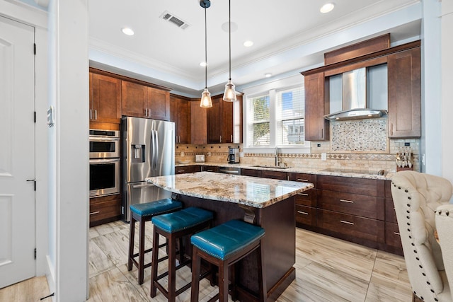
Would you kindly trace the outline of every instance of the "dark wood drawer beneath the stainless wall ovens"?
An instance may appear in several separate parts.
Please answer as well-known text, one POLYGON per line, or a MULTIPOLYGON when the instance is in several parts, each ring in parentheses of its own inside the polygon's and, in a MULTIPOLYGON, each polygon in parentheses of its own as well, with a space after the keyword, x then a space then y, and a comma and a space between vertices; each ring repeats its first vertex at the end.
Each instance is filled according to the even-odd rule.
POLYGON ((121 218, 121 194, 90 198, 90 227, 121 218))

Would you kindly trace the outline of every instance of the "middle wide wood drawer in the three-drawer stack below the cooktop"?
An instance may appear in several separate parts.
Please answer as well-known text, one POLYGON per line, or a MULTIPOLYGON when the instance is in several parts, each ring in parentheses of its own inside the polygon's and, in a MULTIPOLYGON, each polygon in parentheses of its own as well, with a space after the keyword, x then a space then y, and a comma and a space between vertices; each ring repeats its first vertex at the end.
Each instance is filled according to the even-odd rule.
POLYGON ((384 220, 384 202, 377 197, 327 190, 316 193, 316 203, 321 209, 384 220))

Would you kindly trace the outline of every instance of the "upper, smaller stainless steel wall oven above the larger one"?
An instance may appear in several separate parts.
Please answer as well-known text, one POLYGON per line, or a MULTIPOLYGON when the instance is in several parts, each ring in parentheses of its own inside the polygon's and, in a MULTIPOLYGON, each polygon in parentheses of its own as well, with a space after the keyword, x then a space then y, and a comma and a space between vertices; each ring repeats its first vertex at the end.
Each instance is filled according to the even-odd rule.
POLYGON ((90 129, 90 158, 120 158, 120 132, 90 129))

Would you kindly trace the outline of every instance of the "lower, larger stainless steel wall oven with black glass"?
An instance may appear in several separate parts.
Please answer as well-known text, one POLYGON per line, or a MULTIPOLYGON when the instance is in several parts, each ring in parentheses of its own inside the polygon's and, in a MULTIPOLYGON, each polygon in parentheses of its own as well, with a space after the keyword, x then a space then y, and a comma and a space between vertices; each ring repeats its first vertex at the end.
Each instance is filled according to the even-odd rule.
POLYGON ((120 158, 90 159, 90 197, 120 192, 120 158))

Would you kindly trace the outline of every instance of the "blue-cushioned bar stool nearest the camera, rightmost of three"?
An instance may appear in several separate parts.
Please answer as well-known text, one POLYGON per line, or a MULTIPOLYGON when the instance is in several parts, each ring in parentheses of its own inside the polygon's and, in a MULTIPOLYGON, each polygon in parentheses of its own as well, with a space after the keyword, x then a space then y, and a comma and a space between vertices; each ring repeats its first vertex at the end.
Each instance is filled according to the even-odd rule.
MULTIPOLYGON (((261 239, 264 229, 239 220, 231 220, 209 230, 196 233, 190 238, 193 245, 192 254, 192 295, 190 301, 198 301, 201 258, 219 267, 219 294, 210 301, 219 298, 220 302, 228 301, 228 268, 258 250, 258 287, 259 301, 266 301, 267 289, 263 270, 263 245, 261 239)), ((234 271, 233 271, 234 272, 234 271)), ((231 298, 236 300, 234 273, 231 276, 231 298)))

